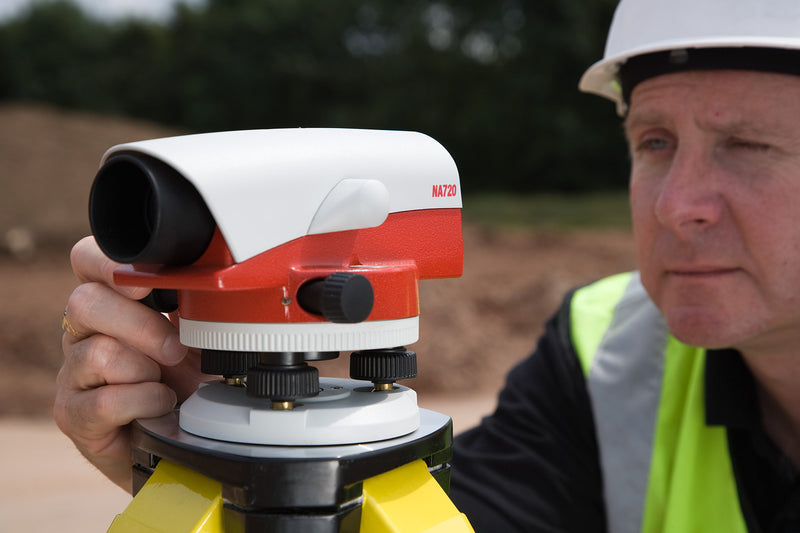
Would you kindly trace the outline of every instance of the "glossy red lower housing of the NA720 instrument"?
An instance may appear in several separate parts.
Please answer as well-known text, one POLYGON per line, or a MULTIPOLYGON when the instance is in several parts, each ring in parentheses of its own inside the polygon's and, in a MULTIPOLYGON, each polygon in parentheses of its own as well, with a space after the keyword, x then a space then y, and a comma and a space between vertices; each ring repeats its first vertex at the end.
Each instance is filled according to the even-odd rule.
POLYGON ((373 228, 306 235, 241 263, 217 230, 191 265, 123 265, 114 280, 176 289, 181 318, 288 324, 326 322, 303 310, 296 294, 334 272, 370 281, 375 300, 367 321, 378 321, 419 315, 419 280, 458 277, 462 270, 461 210, 446 208, 391 213, 373 228))

